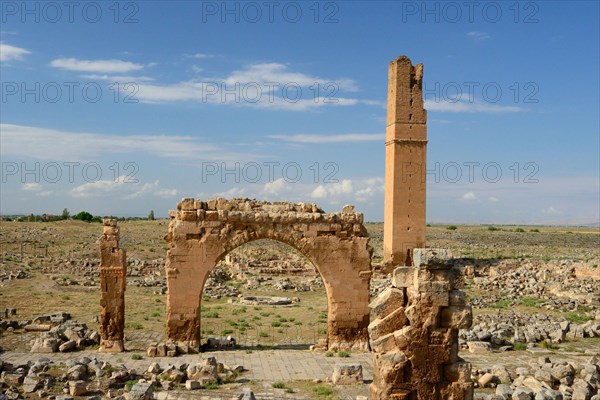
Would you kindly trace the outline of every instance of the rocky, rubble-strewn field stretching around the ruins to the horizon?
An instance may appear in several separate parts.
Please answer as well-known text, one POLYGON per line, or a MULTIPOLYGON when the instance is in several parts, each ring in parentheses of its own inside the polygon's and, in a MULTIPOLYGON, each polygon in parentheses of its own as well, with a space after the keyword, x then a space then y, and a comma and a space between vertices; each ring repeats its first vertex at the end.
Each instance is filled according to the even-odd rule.
MULTIPOLYGON (((151 356, 169 350, 161 347, 166 299, 164 220, 120 222, 121 247, 129 263, 129 352, 121 362, 90 357, 98 345, 95 241, 101 225, 80 221, 0 224, 0 348, 4 355, 34 352, 28 355, 29 363, 0 362, 0 398, 132 399, 148 398, 150 392, 155 398, 173 392, 250 399, 251 391, 261 393, 257 398, 368 395, 367 384, 334 385, 334 376, 268 382, 265 388, 264 382, 261 386, 245 378, 252 368, 220 363, 218 355, 217 360, 204 357, 198 361, 196 356, 195 362, 153 362, 151 356), (53 362, 53 355, 44 358, 40 352, 72 356, 66 362, 53 362), (129 368, 126 364, 134 357, 148 365, 143 370, 129 368), (222 395, 228 388, 237 394, 222 395)), ((367 228, 377 269, 383 225, 367 224, 367 228)), ((461 330, 459 340, 461 357, 473 364, 476 398, 600 399, 598 228, 427 229, 429 246, 451 249, 474 308, 473 326, 461 330)), ((376 273, 371 296, 388 285, 389 277, 376 273)), ((204 339, 235 338, 235 346, 223 343, 223 348, 211 349, 220 352, 241 351, 248 356, 272 350, 308 353, 311 345, 326 336, 327 301, 317 270, 302 255, 275 242, 253 242, 228 255, 206 282, 201 312, 204 339)), ((370 367, 361 355, 318 357, 345 364, 360 361, 368 383, 370 367)), ((344 376, 358 376, 357 371, 351 372, 344 376)), ((360 376, 355 381, 362 382, 362 371, 360 376)))

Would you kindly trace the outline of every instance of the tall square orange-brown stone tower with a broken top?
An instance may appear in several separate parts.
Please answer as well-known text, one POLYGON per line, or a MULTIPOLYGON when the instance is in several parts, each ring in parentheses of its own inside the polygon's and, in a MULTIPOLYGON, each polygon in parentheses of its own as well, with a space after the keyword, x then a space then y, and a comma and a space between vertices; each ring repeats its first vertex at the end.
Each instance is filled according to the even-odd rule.
POLYGON ((406 56, 388 73, 385 140, 384 265, 410 265, 412 250, 425 247, 427 111, 423 64, 406 56))

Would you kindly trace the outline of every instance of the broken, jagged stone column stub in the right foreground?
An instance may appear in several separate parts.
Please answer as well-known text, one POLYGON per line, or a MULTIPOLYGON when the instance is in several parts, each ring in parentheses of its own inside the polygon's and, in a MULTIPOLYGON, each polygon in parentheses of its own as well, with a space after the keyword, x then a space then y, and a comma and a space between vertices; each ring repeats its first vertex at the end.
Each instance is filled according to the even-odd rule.
POLYGON ((458 330, 473 321, 460 271, 443 249, 414 249, 392 286, 369 305, 371 399, 471 400, 471 365, 458 357, 458 330))

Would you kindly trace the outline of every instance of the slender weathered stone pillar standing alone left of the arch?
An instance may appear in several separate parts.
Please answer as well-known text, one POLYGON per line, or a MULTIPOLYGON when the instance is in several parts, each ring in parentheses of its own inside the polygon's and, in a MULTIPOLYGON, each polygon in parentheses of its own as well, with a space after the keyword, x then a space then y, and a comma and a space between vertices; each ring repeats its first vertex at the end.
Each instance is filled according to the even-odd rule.
POLYGON ((98 241, 100 248, 100 348, 103 353, 125 351, 125 250, 119 248, 117 220, 105 219, 104 231, 98 241))

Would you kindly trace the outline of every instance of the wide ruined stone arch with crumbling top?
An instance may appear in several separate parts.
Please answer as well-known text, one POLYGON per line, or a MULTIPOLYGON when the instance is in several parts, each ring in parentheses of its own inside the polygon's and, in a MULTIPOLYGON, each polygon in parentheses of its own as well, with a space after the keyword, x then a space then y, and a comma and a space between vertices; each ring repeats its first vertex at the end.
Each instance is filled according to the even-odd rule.
POLYGON ((167 336, 200 345, 200 301, 210 271, 233 249, 271 239, 298 250, 327 291, 327 348, 368 350, 371 254, 363 215, 347 206, 324 213, 314 204, 248 199, 183 199, 170 212, 165 240, 167 336))

